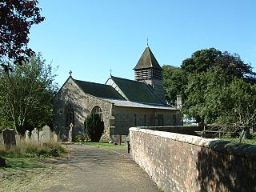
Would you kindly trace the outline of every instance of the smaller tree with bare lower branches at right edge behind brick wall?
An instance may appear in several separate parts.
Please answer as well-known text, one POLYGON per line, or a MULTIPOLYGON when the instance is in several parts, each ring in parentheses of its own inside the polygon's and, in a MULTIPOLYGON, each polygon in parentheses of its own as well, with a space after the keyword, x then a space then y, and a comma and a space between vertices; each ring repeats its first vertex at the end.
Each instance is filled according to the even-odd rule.
POLYGON ((226 87, 226 103, 217 118, 219 126, 225 130, 245 130, 256 126, 256 86, 234 78, 226 87))

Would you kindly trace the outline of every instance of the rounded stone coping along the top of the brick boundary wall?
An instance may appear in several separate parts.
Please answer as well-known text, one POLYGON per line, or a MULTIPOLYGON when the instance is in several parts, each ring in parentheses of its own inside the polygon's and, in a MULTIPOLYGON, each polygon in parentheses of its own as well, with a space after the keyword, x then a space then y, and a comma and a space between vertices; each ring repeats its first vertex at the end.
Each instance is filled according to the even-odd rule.
POLYGON ((256 159, 256 145, 221 141, 218 138, 201 138, 188 134, 176 134, 166 131, 146 130, 138 127, 131 127, 129 130, 135 132, 142 132, 145 134, 152 134, 162 138, 170 138, 175 141, 186 142, 196 146, 207 147, 211 150, 216 150, 226 154, 234 154, 244 156, 246 158, 256 159))

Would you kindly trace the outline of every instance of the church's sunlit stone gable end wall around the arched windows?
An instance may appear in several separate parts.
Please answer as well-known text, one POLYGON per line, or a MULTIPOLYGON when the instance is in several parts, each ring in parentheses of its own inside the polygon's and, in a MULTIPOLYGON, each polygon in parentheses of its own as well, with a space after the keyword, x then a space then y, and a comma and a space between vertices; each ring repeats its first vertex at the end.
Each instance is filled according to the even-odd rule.
POLYGON ((65 134, 66 136, 68 136, 68 130, 70 129, 65 125, 65 107, 67 104, 74 108, 74 129, 77 134, 82 133, 85 118, 93 110, 94 106, 99 106, 102 109, 102 118, 105 126, 102 138, 109 139, 110 118, 112 117, 112 104, 110 102, 85 94, 73 79, 69 78, 54 98, 54 130, 58 134, 65 134))

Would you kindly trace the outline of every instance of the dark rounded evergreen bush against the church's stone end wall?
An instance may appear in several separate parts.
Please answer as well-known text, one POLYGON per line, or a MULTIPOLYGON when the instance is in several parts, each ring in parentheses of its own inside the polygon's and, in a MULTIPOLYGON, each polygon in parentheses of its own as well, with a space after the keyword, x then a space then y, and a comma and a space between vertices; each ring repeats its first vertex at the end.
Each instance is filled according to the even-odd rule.
POLYGON ((99 114, 91 113, 87 116, 84 123, 85 131, 92 142, 99 142, 104 131, 104 122, 99 114))

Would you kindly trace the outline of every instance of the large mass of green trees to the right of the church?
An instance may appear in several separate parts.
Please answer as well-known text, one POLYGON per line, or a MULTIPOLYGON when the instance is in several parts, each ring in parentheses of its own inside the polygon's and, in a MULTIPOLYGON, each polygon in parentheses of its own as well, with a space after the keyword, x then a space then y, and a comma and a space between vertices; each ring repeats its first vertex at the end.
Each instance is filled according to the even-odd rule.
MULTIPOLYGON (((248 106, 255 105, 252 102, 255 94, 251 91, 256 82, 255 72, 250 63, 243 62, 238 54, 214 48, 198 50, 186 58, 180 68, 163 66, 163 82, 169 102, 174 103, 176 95, 182 94, 184 114, 197 122, 211 124, 226 119, 230 124, 237 122, 238 111, 244 118, 254 117, 253 108, 248 106), (250 89, 242 90, 241 83, 250 89), (235 94, 235 90, 242 94, 235 94), (244 105, 238 102, 243 100, 251 103, 244 102, 244 105), (246 112, 253 115, 247 115, 246 112)), ((253 122, 243 121, 243 124, 252 125, 253 122)))

